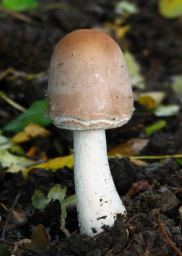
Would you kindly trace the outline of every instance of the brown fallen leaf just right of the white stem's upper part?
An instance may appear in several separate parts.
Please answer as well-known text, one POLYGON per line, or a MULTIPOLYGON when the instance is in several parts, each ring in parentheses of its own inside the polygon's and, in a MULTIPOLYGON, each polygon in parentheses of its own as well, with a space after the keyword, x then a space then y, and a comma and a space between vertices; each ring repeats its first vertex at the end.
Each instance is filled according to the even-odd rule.
POLYGON ((108 151, 108 156, 117 156, 118 154, 126 156, 139 155, 140 151, 147 146, 148 140, 142 138, 133 138, 125 143, 121 143, 112 150, 108 151))

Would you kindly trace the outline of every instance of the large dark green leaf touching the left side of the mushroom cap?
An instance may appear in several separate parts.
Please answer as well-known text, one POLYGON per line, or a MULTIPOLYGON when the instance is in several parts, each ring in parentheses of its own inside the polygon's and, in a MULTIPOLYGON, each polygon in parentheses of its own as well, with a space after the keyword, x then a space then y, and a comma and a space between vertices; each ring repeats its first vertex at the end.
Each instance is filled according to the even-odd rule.
POLYGON ((44 116, 46 107, 46 99, 34 102, 25 113, 5 125, 3 129, 8 132, 20 132, 30 123, 39 124, 39 126, 51 124, 51 119, 44 116))

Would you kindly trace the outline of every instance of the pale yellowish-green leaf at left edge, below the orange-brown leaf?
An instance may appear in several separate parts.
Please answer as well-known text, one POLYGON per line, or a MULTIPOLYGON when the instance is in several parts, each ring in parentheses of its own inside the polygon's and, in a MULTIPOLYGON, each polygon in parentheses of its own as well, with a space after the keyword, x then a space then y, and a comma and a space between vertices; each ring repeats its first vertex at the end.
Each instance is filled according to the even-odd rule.
POLYGON ((0 163, 3 168, 9 168, 12 163, 20 164, 20 165, 29 165, 34 163, 35 160, 27 159, 23 156, 17 156, 9 153, 8 150, 0 150, 0 163))

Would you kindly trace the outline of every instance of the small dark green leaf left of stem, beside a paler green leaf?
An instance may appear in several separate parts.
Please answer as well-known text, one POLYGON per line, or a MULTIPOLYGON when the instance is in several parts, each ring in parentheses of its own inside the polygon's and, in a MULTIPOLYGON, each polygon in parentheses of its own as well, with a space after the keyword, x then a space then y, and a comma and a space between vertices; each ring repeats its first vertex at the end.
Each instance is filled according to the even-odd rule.
POLYGON ((33 196, 31 197, 32 204, 34 208, 43 210, 51 200, 46 199, 41 190, 35 190, 33 196))

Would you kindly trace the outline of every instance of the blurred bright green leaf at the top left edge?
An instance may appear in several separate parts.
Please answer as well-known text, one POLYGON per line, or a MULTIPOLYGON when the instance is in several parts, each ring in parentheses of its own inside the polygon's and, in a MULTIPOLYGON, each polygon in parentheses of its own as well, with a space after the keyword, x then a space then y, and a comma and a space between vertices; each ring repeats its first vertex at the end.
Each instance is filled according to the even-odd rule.
POLYGON ((1 4, 4 8, 17 12, 34 9, 39 5, 36 0, 1 0, 1 4))

